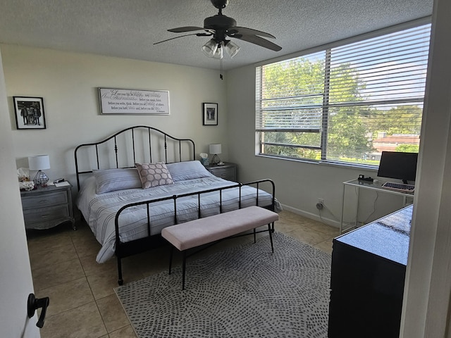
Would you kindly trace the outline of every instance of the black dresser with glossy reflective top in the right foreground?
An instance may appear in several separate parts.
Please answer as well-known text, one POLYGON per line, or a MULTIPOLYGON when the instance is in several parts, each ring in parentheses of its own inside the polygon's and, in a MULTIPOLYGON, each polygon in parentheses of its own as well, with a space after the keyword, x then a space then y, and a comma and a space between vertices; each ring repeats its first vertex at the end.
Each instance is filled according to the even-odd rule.
POLYGON ((412 206, 333 239, 329 338, 397 338, 412 206))

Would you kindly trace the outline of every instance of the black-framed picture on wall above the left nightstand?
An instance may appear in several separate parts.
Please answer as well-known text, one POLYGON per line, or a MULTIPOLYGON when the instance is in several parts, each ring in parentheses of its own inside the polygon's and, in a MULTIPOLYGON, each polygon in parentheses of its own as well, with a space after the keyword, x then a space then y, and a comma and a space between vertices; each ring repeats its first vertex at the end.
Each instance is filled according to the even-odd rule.
POLYGON ((17 129, 45 129, 42 97, 13 96, 17 129))

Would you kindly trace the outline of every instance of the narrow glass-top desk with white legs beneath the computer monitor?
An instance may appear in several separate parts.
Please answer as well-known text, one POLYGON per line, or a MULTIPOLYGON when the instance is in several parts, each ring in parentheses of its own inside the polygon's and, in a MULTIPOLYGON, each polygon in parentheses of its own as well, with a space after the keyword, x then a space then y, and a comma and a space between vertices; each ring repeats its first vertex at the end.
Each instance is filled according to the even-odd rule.
POLYGON ((357 220, 359 219, 359 195, 360 195, 360 189, 371 189, 376 190, 377 192, 384 192, 387 194, 394 194, 398 196, 402 196, 403 198, 403 204, 404 206, 407 204, 407 199, 413 199, 414 193, 412 192, 399 192, 397 190, 383 188, 382 184, 385 182, 368 182, 368 181, 359 181, 359 180, 350 180, 343 182, 343 196, 342 196, 342 204, 341 204, 341 220, 340 220, 340 234, 342 234, 344 231, 357 228, 357 220), (345 213, 345 192, 346 187, 354 187, 357 188, 357 206, 356 206, 356 215, 355 215, 355 222, 354 226, 352 227, 343 227, 343 216, 345 213))

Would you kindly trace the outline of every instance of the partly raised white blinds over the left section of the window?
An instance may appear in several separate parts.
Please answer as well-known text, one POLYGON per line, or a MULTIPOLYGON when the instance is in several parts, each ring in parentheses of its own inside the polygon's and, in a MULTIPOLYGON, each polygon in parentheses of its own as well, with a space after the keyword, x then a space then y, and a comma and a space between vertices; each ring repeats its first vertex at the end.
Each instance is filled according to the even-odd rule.
POLYGON ((257 68, 257 130, 319 130, 324 63, 321 51, 257 68))

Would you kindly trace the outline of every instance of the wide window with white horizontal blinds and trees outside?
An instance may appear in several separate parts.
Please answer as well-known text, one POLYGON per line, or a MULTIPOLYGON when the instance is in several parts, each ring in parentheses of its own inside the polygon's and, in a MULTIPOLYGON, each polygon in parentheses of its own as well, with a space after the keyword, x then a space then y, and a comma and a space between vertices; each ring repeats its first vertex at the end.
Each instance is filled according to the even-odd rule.
POLYGON ((257 154, 378 165, 419 149, 431 25, 257 67, 257 154))

